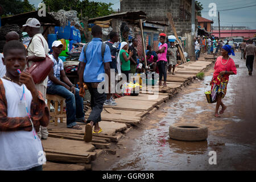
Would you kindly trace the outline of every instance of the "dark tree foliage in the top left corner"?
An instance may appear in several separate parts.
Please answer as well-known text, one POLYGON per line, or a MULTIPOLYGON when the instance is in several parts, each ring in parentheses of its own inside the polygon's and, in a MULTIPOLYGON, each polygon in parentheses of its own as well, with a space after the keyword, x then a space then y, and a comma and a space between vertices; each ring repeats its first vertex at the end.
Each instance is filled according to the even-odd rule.
POLYGON ((5 10, 2 16, 16 15, 20 13, 26 13, 28 11, 34 11, 35 6, 31 5, 28 0, 1 0, 0 4, 5 10))

